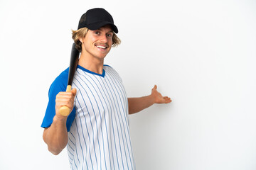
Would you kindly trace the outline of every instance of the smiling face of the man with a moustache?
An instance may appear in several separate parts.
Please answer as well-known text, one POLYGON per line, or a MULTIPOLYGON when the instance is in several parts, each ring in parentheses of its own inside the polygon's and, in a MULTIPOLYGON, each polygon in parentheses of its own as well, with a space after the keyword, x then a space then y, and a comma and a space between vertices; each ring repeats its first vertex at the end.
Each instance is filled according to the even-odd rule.
POLYGON ((113 34, 110 26, 103 26, 98 30, 88 30, 85 38, 80 38, 82 54, 103 60, 111 50, 113 34))

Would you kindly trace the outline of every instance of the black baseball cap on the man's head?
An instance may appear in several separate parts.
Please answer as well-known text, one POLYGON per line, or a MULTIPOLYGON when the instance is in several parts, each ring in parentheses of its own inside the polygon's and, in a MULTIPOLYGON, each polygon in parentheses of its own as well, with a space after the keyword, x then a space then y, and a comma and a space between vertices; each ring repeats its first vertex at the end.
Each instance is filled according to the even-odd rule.
POLYGON ((82 14, 78 24, 78 30, 84 27, 89 30, 97 30, 106 25, 110 25, 114 33, 118 33, 117 26, 114 25, 114 20, 110 13, 104 8, 92 8, 82 14))

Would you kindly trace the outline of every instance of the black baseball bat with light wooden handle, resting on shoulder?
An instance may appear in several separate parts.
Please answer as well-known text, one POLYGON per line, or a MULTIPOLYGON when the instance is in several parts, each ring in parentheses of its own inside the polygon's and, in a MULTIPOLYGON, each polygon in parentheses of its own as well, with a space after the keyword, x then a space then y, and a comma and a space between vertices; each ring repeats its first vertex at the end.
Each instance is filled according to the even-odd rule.
MULTIPOLYGON (((68 71, 68 86, 66 91, 71 91, 72 89, 75 70, 76 70, 76 67, 78 66, 79 53, 80 52, 75 48, 75 43, 73 43, 72 49, 71 49, 70 67, 68 71)), ((68 106, 61 106, 59 112, 61 115, 68 116, 70 114, 70 108, 68 108, 68 106)))

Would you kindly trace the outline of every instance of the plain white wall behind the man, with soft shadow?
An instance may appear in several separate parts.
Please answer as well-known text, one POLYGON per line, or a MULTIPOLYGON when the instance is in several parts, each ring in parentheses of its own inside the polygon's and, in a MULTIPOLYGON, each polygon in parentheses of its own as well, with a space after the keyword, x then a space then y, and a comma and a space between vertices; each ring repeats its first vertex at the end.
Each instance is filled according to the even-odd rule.
POLYGON ((122 44, 105 60, 130 97, 168 105, 129 116, 137 169, 256 169, 256 2, 0 1, 0 169, 69 169, 43 142, 53 79, 82 13, 103 7, 122 44))

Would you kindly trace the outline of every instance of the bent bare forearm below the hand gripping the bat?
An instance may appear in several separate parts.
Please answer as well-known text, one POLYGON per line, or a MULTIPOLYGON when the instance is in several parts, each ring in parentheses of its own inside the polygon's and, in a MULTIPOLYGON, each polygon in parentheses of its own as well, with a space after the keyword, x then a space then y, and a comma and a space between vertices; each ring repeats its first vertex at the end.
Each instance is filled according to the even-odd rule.
POLYGON ((66 118, 53 118, 53 123, 43 132, 43 140, 48 145, 48 150, 57 155, 68 144, 68 131, 66 128, 66 118))

